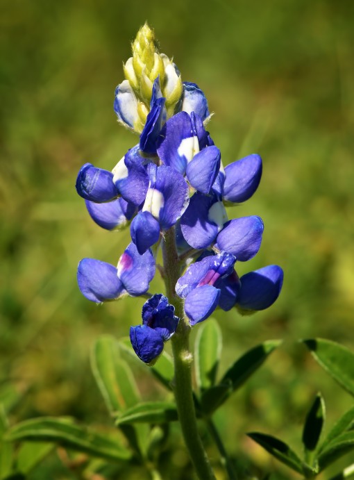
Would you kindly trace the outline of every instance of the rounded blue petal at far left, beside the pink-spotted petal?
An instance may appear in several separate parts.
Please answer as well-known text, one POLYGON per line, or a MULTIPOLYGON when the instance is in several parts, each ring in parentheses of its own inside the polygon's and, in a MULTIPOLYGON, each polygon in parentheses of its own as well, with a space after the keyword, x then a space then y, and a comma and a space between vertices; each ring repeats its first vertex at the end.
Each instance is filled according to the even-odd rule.
POLYGON ((78 288, 89 300, 100 304, 126 294, 117 277, 117 268, 94 258, 83 258, 78 264, 78 288))

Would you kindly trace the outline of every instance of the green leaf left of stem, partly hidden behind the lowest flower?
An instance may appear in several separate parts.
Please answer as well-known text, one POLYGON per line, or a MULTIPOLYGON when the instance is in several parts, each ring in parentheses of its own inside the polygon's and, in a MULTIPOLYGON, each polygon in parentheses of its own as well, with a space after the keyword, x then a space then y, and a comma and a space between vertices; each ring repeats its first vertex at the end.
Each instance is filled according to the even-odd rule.
POLYGON ((158 358, 158 361, 152 367, 148 367, 145 365, 133 350, 133 347, 130 344, 129 338, 122 338, 119 340, 119 348, 121 351, 124 351, 125 354, 130 356, 130 358, 134 358, 134 360, 140 364, 146 370, 149 370, 153 376, 155 376, 163 386, 165 386, 168 390, 172 390, 171 384, 174 379, 174 363, 172 358, 166 351, 162 352, 162 355, 158 358))

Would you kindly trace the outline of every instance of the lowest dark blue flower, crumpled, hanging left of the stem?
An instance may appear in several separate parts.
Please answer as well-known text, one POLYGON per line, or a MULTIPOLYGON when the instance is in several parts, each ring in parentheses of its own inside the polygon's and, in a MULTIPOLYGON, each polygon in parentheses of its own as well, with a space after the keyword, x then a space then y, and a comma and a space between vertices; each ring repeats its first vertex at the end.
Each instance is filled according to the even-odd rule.
POLYGON ((151 364, 178 326, 174 306, 162 295, 153 295, 142 307, 142 325, 130 326, 130 342, 137 356, 151 364))

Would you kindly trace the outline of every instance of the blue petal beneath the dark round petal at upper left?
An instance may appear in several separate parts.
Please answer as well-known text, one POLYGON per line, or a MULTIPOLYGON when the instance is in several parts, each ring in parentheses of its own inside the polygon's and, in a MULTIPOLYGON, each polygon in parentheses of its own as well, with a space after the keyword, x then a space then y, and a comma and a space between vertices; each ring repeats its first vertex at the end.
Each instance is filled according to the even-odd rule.
POLYGON ((85 200, 88 213, 96 224, 106 230, 116 229, 126 224, 126 215, 121 208, 121 199, 109 201, 106 204, 96 204, 85 200))

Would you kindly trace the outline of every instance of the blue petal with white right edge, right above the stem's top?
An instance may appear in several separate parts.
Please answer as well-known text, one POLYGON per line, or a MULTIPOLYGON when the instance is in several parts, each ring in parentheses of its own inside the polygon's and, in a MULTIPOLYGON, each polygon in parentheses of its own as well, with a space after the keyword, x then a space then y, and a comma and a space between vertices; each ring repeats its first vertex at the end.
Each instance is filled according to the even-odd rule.
POLYGON ((180 228, 191 247, 203 249, 212 245, 226 221, 225 208, 215 195, 196 192, 180 219, 180 228))

